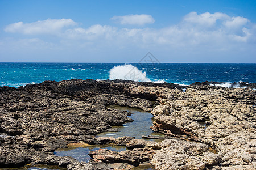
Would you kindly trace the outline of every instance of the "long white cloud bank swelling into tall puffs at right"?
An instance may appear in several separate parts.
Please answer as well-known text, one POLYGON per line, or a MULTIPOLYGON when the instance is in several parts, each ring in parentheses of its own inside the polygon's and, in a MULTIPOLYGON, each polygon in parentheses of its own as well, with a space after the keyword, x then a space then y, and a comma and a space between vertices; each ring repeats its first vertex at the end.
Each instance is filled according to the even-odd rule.
MULTIPOLYGON (((135 43, 139 46, 166 45, 172 48, 204 45, 210 49, 220 49, 237 42, 244 43, 255 35, 255 29, 248 25, 249 20, 242 17, 230 17, 224 13, 185 15, 177 25, 160 29, 128 29, 109 25, 92 25, 89 28, 74 28, 66 32, 66 37, 105 42, 115 41, 117 45, 135 43), (236 29, 234 31, 234 29, 236 29), (254 30, 254 31, 253 31, 254 30)), ((110 44, 113 44, 111 42, 110 44)), ((229 48, 226 48, 227 50, 229 48)))

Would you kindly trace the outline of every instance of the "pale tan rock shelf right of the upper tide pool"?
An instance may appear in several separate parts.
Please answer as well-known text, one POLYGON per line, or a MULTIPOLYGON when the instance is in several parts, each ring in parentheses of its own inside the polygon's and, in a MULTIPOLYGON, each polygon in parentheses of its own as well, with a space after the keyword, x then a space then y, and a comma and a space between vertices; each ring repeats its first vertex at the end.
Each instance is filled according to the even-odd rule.
POLYGON ((256 168, 255 90, 197 84, 186 92, 163 88, 156 93, 162 106, 151 112, 152 130, 206 143, 222 155, 213 168, 256 168), (204 121, 207 128, 199 124, 204 121))

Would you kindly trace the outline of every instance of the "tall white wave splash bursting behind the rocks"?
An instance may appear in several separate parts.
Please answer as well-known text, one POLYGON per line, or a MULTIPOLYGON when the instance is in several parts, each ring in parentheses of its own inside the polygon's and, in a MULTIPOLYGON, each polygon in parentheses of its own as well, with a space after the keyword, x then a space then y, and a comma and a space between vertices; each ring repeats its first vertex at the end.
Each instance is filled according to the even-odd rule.
POLYGON ((139 69, 133 65, 119 65, 114 66, 109 71, 109 79, 122 79, 122 80, 133 80, 136 82, 151 82, 147 78, 146 72, 142 73, 139 69))

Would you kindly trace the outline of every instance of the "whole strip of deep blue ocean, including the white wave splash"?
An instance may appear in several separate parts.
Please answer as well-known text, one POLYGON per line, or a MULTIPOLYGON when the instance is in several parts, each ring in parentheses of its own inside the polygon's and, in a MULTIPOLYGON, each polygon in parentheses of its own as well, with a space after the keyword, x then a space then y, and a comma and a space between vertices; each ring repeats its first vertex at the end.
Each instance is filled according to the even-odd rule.
MULTIPOLYGON (((44 80, 74 78, 127 79, 127 74, 134 71, 134 75, 139 73, 152 82, 191 84, 208 80, 256 83, 255 70, 256 64, 241 63, 0 63, 0 86, 19 87, 44 80), (110 71, 114 67, 115 69, 110 71)), ((128 79, 133 80, 133 77, 129 76, 128 79)))

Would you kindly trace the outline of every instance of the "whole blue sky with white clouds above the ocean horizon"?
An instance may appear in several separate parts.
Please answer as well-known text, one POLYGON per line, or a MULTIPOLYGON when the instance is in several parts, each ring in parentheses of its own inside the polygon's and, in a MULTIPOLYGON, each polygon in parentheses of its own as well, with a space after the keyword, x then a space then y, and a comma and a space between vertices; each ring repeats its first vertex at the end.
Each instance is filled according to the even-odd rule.
POLYGON ((0 62, 256 63, 256 1, 0 0, 0 62))

